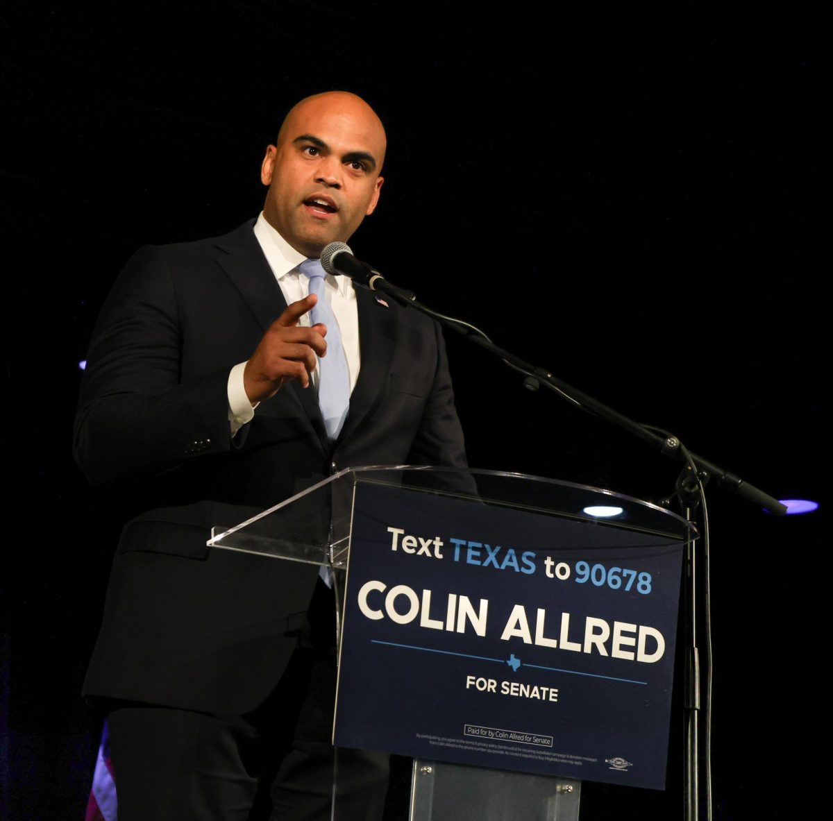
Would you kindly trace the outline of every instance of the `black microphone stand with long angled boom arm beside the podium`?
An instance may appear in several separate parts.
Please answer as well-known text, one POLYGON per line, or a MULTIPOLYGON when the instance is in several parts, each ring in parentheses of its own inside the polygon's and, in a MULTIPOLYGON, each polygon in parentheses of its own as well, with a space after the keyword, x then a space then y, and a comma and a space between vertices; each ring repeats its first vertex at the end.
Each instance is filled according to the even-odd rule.
MULTIPOLYGON (((685 794, 685 819, 686 821, 700 821, 700 759, 701 759, 701 734, 700 734, 700 714, 703 710, 706 722, 706 749, 703 757, 706 759, 706 819, 711 821, 711 607, 709 602, 709 567, 708 567, 708 543, 709 531, 708 520, 706 518, 705 505, 703 510, 704 527, 703 527, 703 557, 701 563, 697 561, 697 552, 695 550, 695 537, 692 536, 692 528, 695 525, 695 510, 704 497, 704 485, 712 478, 716 479, 717 486, 723 490, 730 491, 754 505, 758 505, 761 509, 767 510, 775 515, 786 515, 786 505, 782 505, 780 501, 773 498, 771 495, 765 493, 763 490, 750 485, 739 476, 724 470, 713 462, 704 459, 702 456, 691 453, 686 450, 681 441, 675 435, 640 425, 639 423, 622 415, 618 411, 603 405, 586 393, 579 391, 573 386, 567 385, 559 379, 556 379, 550 371, 546 368, 531 365, 529 362, 522 360, 509 351, 496 346, 482 331, 467 322, 454 319, 451 316, 445 316, 431 308, 422 305, 416 300, 416 296, 412 291, 406 291, 399 288, 392 283, 385 280, 377 271, 373 271, 373 276, 366 282, 361 282, 365 287, 372 291, 382 291, 388 296, 392 296, 397 302, 404 306, 411 306, 416 311, 431 316, 431 318, 438 321, 441 326, 455 331, 455 333, 465 336, 466 339, 475 345, 485 348, 486 351, 498 356, 506 365, 510 366, 516 371, 520 371, 526 375, 524 385, 530 391, 537 391, 541 385, 550 388, 557 394, 562 396, 567 401, 580 407, 583 411, 591 415, 599 416, 613 425, 629 431, 636 438, 645 441, 647 444, 655 447, 671 459, 680 459, 686 461, 686 466, 683 468, 677 482, 676 495, 679 497, 683 509, 683 515, 689 522, 691 527, 686 530, 686 575, 685 575, 685 590, 683 593, 683 612, 686 616, 686 679, 685 679, 685 700, 684 709, 685 716, 685 734, 686 746, 684 750, 684 794, 685 794), (702 567, 700 566, 702 564, 702 567), (702 580, 701 580, 702 578, 702 580), (701 600, 699 593, 699 585, 703 585, 704 601, 703 615, 698 613, 698 602, 701 600), (697 625, 699 620, 704 622, 706 653, 704 660, 706 662, 706 670, 708 673, 706 686, 706 699, 702 699, 701 693, 701 660, 700 651, 698 648, 697 625)), ((670 501, 670 500, 669 500, 670 501)), ((694 531, 696 532, 696 530, 694 531)))

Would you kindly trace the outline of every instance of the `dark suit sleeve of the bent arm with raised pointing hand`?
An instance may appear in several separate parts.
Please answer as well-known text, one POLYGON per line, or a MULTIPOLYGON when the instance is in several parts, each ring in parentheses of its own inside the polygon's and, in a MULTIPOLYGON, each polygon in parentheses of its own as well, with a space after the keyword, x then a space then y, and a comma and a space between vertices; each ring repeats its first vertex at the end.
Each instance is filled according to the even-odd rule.
POLYGON ((183 382, 180 299, 160 248, 132 256, 102 306, 74 425, 95 484, 166 473, 229 450, 228 370, 183 382))

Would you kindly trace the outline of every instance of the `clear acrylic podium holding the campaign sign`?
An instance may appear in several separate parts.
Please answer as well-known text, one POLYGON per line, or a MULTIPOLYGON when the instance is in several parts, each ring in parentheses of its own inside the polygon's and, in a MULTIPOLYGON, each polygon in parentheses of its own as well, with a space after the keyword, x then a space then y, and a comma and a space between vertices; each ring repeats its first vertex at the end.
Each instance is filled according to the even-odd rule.
MULTIPOLYGON (((339 614, 344 604, 350 555, 354 491, 361 483, 388 485, 421 494, 474 500, 478 505, 530 511, 640 534, 694 538, 691 524, 648 502, 586 485, 489 470, 367 466, 342 470, 302 493, 240 523, 218 522, 209 545, 217 550, 324 565, 332 574, 339 614), (612 512, 618 509, 619 512, 612 512)), ((324 571, 327 572, 327 571, 324 571)), ((382 752, 388 752, 384 750, 382 752)), ((338 751, 336 751, 336 770, 338 751)), ((333 814, 338 813, 337 774, 333 814)), ((410 821, 576 821, 581 781, 551 775, 486 769, 448 761, 413 759, 410 821)))

